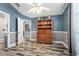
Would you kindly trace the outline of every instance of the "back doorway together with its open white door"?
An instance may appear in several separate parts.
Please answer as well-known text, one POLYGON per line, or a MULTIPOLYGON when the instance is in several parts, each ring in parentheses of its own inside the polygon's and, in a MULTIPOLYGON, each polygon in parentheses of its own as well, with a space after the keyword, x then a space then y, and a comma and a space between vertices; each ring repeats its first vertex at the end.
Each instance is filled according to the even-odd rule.
POLYGON ((17 43, 20 44, 24 40, 31 39, 31 20, 21 19, 18 17, 17 43))

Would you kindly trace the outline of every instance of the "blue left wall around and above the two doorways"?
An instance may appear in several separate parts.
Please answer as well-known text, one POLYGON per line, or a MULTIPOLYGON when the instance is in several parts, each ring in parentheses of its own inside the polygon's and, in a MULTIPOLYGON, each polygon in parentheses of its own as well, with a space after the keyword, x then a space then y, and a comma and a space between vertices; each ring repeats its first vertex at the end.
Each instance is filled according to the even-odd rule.
POLYGON ((10 14, 10 31, 15 32, 16 29, 16 18, 30 19, 29 17, 21 15, 14 7, 9 3, 0 3, 0 10, 10 14))

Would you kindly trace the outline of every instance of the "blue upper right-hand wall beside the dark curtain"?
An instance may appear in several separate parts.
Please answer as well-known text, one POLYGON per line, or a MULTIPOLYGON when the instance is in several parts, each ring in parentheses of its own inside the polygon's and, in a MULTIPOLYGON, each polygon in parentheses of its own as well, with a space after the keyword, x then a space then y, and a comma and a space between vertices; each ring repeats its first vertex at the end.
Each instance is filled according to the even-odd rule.
POLYGON ((69 31, 69 21, 70 21, 70 4, 66 7, 62 15, 62 30, 69 31))

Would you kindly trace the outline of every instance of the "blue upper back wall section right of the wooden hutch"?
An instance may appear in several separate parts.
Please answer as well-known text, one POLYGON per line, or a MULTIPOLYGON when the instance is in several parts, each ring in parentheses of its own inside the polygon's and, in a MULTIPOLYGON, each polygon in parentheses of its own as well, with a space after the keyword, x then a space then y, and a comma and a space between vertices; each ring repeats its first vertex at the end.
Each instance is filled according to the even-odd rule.
POLYGON ((62 31, 62 16, 51 16, 53 22, 53 31, 62 31))

